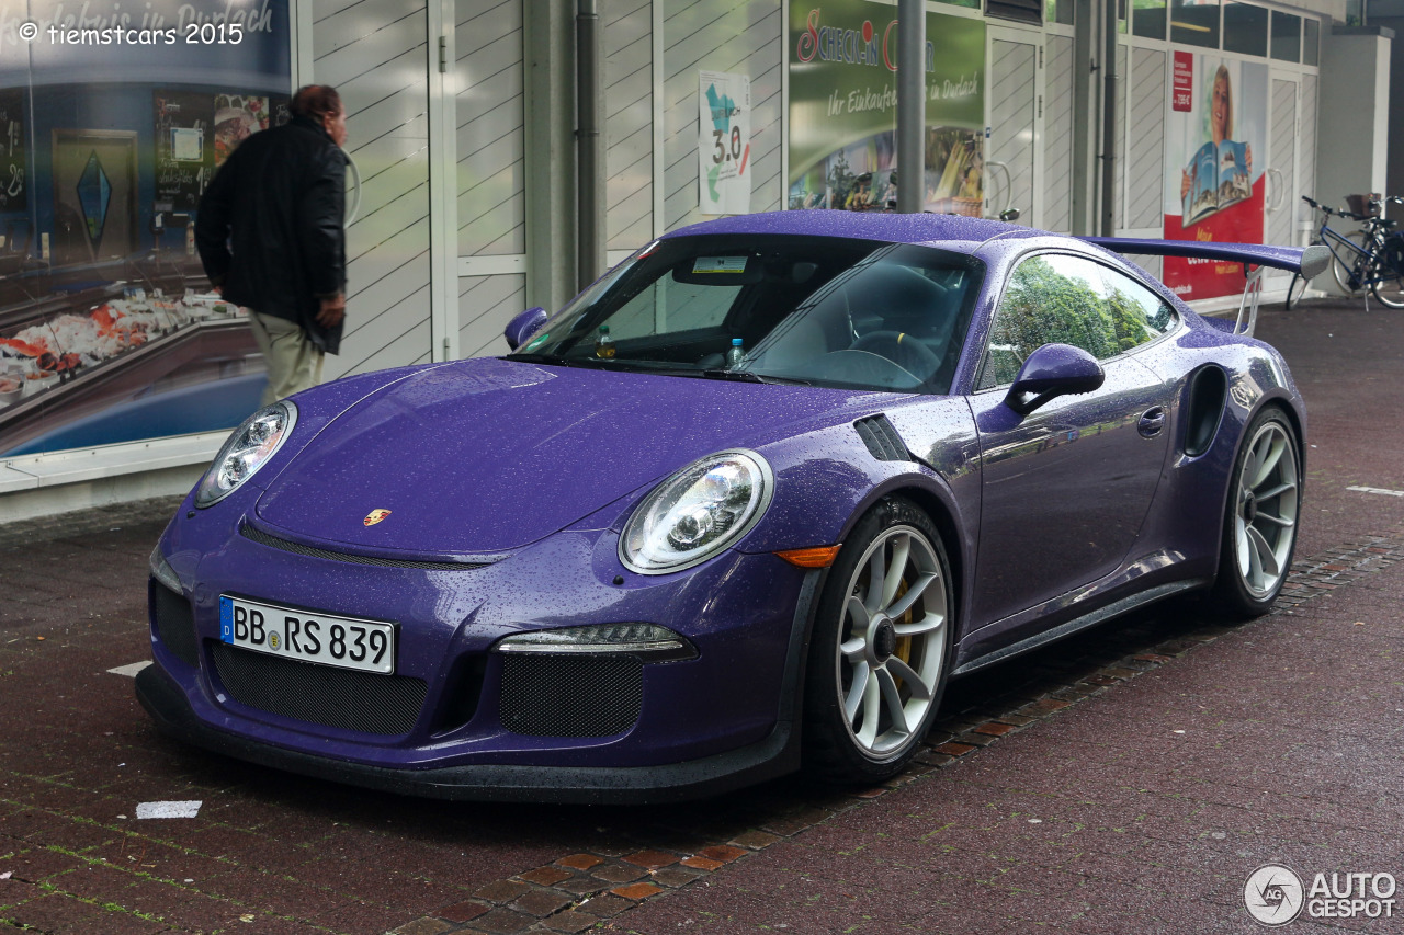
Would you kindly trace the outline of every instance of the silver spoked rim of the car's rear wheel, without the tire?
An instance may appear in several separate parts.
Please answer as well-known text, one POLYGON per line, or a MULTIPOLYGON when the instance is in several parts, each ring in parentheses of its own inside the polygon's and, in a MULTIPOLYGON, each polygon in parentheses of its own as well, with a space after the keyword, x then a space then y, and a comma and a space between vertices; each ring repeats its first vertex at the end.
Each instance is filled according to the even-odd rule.
POLYGON ((1248 442, 1248 456, 1234 487, 1238 574, 1248 592, 1262 598, 1287 573, 1297 535, 1297 451, 1282 423, 1264 423, 1248 442))

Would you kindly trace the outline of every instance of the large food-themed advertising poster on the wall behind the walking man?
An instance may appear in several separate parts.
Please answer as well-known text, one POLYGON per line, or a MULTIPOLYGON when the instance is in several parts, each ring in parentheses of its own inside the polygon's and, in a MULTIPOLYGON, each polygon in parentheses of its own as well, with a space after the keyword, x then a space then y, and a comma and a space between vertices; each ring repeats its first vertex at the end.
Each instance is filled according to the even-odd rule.
POLYGON ((286 111, 288 0, 0 0, 0 459, 237 425, 265 368, 194 251, 286 111))

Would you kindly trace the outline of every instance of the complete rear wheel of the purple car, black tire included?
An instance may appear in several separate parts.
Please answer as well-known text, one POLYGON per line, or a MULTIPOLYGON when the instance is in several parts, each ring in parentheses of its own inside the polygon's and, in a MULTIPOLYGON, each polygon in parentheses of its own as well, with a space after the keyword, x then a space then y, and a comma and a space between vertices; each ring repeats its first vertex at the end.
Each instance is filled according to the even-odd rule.
POLYGON ((1302 442, 1276 407, 1244 432, 1230 475, 1213 604, 1233 619, 1262 616, 1282 591, 1297 545, 1302 442))

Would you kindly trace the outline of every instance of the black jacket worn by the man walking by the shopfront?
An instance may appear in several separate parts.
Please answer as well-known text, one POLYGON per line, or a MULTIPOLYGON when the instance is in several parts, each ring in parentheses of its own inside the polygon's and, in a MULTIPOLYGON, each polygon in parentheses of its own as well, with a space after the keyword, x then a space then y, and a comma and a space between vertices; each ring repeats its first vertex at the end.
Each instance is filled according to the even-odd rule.
POLYGON ((320 125, 295 118, 254 133, 215 173, 195 215, 209 281, 230 302, 296 321, 329 354, 341 326, 316 321, 345 292, 345 154, 320 125))

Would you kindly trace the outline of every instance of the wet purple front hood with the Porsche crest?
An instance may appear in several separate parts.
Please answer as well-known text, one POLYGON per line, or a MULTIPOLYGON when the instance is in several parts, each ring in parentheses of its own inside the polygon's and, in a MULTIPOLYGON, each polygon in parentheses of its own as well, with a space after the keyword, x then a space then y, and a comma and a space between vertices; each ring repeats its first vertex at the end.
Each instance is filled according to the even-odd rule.
POLYGON ((490 555, 713 451, 873 393, 496 358, 400 380, 338 416, 256 507, 265 528, 379 555, 490 555), (389 511, 368 525, 372 514, 389 511))

